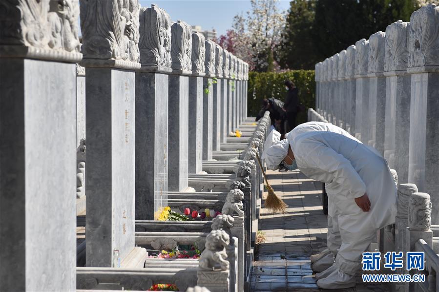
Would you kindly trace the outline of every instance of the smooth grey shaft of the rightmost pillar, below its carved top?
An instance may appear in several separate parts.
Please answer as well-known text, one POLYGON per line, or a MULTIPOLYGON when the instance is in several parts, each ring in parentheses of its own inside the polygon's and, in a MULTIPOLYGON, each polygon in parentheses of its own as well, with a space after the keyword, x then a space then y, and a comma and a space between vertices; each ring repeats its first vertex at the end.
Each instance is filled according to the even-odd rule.
MULTIPOLYGON (((420 192, 431 194, 433 206, 439 205, 438 181, 438 73, 412 74, 410 100, 410 183, 420 192)), ((439 212, 432 212, 432 224, 439 224, 439 212)))

